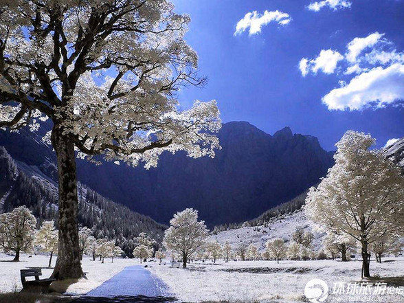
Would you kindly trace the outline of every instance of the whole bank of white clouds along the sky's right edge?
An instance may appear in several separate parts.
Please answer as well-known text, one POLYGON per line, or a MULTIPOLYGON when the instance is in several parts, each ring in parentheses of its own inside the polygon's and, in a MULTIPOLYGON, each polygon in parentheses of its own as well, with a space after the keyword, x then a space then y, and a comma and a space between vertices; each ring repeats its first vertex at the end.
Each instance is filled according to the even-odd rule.
POLYGON ((374 32, 352 39, 344 56, 323 49, 315 59, 300 60, 302 76, 319 70, 337 76, 339 87, 322 98, 329 110, 355 111, 404 101, 404 52, 397 52, 383 36, 374 32))

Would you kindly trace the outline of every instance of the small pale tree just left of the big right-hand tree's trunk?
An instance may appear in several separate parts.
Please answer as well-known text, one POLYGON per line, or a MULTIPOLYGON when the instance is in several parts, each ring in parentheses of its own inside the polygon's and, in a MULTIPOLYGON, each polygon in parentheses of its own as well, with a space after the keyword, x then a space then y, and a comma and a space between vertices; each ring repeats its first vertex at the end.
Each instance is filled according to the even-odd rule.
POLYGON ((324 249, 329 251, 333 259, 335 254, 341 254, 342 261, 348 261, 347 255, 350 255, 352 249, 357 247, 357 240, 349 236, 348 234, 335 234, 335 232, 329 232, 324 238, 324 249))

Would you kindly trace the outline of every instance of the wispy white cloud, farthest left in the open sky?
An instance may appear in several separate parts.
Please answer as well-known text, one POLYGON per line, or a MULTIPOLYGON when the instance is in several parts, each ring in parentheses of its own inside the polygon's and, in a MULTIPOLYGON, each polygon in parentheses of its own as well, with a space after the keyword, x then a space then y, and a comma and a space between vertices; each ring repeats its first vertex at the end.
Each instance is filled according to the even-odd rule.
POLYGON ((244 18, 238 21, 236 25, 236 32, 234 36, 245 32, 249 28, 249 36, 254 34, 259 34, 261 32, 261 27, 267 25, 271 22, 276 22, 279 25, 287 25, 291 22, 291 16, 286 12, 280 12, 275 10, 269 12, 265 10, 264 14, 259 14, 258 12, 247 12, 244 18))

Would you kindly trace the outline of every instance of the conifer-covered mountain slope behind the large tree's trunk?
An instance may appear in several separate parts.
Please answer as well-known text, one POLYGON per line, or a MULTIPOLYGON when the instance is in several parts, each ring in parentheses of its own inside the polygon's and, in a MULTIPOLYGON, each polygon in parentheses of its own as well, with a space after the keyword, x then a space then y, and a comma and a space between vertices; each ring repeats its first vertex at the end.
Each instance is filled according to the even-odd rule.
MULTIPOLYGON (((97 238, 115 239, 131 255, 133 238, 146 232, 161 243, 166 226, 148 216, 137 214, 123 205, 105 199, 82 183, 78 184, 78 221, 93 229, 97 238)), ((14 161, 0 146, 0 213, 25 205, 34 213, 38 224, 53 220, 58 226, 58 190, 55 181, 37 166, 14 161)))

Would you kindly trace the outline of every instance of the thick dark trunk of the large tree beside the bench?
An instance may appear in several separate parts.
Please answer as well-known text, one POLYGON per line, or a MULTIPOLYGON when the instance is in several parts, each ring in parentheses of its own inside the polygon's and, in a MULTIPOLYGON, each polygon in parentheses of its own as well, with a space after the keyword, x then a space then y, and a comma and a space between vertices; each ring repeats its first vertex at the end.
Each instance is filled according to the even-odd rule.
POLYGON ((52 129, 52 146, 58 159, 59 183, 59 245, 58 259, 52 277, 58 280, 84 276, 80 263, 77 222, 77 179, 74 143, 55 123, 52 129))

